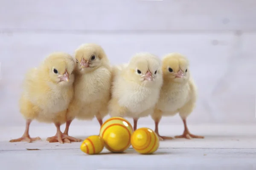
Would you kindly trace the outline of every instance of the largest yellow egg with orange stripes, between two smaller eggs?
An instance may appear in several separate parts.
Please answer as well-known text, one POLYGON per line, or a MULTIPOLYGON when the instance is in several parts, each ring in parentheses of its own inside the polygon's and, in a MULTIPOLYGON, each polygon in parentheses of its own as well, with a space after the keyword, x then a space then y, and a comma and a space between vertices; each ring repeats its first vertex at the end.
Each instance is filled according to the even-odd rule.
POLYGON ((99 135, 109 151, 120 153, 131 146, 133 132, 133 127, 128 120, 122 117, 112 117, 102 124, 99 135))

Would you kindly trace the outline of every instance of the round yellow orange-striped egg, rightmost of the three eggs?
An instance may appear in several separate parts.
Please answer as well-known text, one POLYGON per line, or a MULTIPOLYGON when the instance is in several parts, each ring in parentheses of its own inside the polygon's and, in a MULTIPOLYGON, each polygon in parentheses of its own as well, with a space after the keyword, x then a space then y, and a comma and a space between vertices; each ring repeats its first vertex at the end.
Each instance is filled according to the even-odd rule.
POLYGON ((158 149, 159 138, 153 130, 142 127, 134 131, 131 136, 131 145, 138 153, 151 154, 158 149))

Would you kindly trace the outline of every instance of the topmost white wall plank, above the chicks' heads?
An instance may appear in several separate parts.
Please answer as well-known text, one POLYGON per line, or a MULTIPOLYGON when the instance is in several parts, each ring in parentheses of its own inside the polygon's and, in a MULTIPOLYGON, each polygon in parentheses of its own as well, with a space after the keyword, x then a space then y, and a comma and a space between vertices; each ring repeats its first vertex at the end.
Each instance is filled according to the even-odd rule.
POLYGON ((5 31, 256 30, 255 0, 2 0, 5 31))

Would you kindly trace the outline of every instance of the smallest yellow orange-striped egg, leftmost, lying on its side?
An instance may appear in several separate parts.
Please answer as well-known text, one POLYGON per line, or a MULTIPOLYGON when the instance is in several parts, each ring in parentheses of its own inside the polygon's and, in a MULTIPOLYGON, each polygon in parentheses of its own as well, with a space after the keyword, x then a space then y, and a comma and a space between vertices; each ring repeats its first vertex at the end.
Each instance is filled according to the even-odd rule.
POLYGON ((104 148, 104 141, 98 135, 89 136, 81 144, 80 149, 89 155, 101 153, 104 148))

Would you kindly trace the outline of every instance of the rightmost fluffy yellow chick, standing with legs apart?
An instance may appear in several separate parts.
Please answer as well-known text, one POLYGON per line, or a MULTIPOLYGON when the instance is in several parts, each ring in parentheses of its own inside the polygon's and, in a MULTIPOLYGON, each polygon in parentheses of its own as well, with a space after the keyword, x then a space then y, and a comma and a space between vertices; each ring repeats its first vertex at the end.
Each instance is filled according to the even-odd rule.
POLYGON ((155 132, 163 139, 172 139, 168 136, 160 136, 158 124, 162 116, 174 116, 180 114, 184 123, 184 133, 175 138, 204 138, 189 132, 186 118, 193 111, 197 99, 195 83, 190 75, 189 60, 178 53, 167 54, 162 61, 163 86, 160 92, 160 99, 157 102, 154 113, 151 117, 155 121, 155 132))

